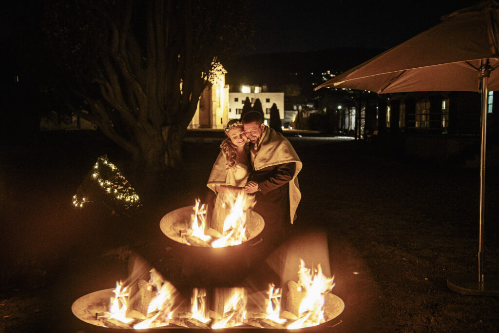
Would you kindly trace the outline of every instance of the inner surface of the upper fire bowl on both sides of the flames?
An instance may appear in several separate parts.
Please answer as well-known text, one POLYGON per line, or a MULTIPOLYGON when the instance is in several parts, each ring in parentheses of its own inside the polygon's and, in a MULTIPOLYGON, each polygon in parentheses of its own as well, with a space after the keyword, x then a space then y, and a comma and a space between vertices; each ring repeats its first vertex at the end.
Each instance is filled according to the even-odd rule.
MULTIPOLYGON (((192 214, 193 209, 191 206, 182 207, 166 214, 160 222, 161 231, 175 242, 189 246, 198 246, 189 244, 184 237, 180 236, 181 232, 185 232, 190 229, 192 214)), ((249 237, 246 242, 258 236, 264 226, 265 223, 263 222, 263 218, 258 213, 250 211, 250 221, 246 224, 247 234, 249 237)))

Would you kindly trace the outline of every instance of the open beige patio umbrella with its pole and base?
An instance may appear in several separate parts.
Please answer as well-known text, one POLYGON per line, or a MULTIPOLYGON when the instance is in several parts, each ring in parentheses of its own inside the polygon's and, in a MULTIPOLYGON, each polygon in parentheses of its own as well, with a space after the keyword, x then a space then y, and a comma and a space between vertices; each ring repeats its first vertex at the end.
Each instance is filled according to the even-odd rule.
POLYGON ((478 275, 448 279, 452 290, 499 296, 499 282, 485 276, 484 207, 488 90, 499 90, 499 3, 483 1, 442 17, 442 22, 315 88, 338 87, 377 93, 477 91, 482 94, 480 234, 478 275))

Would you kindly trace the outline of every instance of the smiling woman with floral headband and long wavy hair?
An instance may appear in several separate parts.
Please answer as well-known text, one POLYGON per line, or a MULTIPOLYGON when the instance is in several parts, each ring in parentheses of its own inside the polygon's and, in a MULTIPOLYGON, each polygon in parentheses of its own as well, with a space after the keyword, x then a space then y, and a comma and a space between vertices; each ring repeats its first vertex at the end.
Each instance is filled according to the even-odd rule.
MULTIPOLYGON (((237 194, 243 192, 250 176, 249 160, 249 140, 243 130, 243 124, 238 119, 232 119, 225 128, 227 138, 220 145, 220 154, 213 165, 212 172, 208 178, 208 188, 212 190, 211 199, 208 196, 207 217, 210 219, 210 212, 214 209, 215 214, 212 221, 217 223, 217 214, 223 214, 223 197, 232 192, 237 194), (213 207, 213 193, 217 196, 215 207, 213 207)), ((218 228, 214 228, 218 229, 218 228)))

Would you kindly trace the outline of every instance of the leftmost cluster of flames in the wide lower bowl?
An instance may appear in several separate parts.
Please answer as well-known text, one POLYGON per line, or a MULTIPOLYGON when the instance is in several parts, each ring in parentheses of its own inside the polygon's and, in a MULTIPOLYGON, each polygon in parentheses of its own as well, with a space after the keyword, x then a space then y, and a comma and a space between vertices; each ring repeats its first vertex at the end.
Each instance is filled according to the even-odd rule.
POLYGON ((153 292, 148 306, 147 313, 142 314, 142 318, 135 318, 131 315, 131 307, 134 298, 130 297, 129 286, 123 286, 123 283, 116 282, 116 288, 113 290, 114 297, 111 298, 109 312, 105 318, 114 319, 125 324, 139 321, 133 325, 134 329, 147 329, 165 326, 170 323, 173 315, 173 306, 175 303, 175 287, 164 280, 155 270, 150 270, 150 279, 147 284, 147 290, 153 292))

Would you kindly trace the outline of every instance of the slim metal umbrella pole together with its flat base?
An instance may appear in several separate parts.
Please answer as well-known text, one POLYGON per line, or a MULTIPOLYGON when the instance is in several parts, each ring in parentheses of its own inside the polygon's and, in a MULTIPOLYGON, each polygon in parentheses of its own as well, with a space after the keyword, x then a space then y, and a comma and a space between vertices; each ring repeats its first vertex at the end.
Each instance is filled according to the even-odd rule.
POLYGON ((448 279, 447 286, 460 294, 464 295, 485 295, 499 296, 499 279, 497 277, 487 277, 484 274, 484 224, 485 224, 485 147, 487 136, 487 99, 488 99, 488 81, 491 71, 489 64, 482 63, 479 68, 480 79, 482 81, 482 100, 480 111, 482 113, 482 146, 480 152, 480 231, 478 245, 478 280, 477 276, 467 277, 459 276, 448 279))

